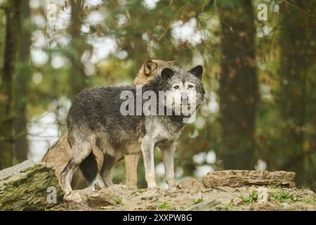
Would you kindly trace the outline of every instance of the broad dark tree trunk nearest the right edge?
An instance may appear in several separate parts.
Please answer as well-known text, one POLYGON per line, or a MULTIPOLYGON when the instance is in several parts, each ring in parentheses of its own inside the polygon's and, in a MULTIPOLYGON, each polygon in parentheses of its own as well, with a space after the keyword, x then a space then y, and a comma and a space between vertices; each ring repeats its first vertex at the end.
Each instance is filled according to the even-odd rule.
MULTIPOLYGON (((312 1, 292 0, 291 4, 310 11, 312 1)), ((284 123, 282 127, 282 152, 287 161, 282 169, 293 170, 298 176, 298 184, 308 179, 304 171, 305 157, 303 144, 305 139, 306 101, 308 71, 315 66, 315 18, 299 12, 293 6, 282 4, 280 8, 282 24, 279 34, 280 79, 279 109, 284 123)), ((311 72, 315 76, 314 72, 311 72)), ((315 114, 313 115, 315 117, 315 114)))

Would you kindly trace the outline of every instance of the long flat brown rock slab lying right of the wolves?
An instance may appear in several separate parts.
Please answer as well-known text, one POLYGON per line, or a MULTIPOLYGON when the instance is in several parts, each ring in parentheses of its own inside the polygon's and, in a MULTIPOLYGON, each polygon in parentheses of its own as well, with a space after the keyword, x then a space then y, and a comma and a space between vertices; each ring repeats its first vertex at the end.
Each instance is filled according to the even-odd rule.
POLYGON ((221 170, 207 173, 202 180, 206 187, 213 186, 282 186, 295 188, 295 173, 285 171, 221 170))

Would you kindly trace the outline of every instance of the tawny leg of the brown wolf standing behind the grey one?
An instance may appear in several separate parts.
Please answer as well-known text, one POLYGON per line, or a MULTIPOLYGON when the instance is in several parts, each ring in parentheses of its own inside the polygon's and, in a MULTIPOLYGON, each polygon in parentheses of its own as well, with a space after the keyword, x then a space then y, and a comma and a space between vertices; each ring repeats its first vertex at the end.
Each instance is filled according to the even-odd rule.
POLYGON ((139 154, 124 155, 126 169, 126 185, 137 188, 137 165, 139 154))

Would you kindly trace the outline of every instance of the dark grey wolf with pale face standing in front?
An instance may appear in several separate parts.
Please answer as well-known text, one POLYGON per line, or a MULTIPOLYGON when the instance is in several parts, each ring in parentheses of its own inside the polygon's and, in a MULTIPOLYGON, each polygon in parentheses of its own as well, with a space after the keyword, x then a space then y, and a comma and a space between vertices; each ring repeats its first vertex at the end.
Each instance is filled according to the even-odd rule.
MULTIPOLYGON (((70 108, 67 125, 68 141, 72 148, 72 157, 62 171, 61 181, 66 194, 72 191, 70 182, 74 169, 91 155, 94 149, 100 149, 105 154, 102 176, 105 184, 112 184, 110 172, 114 162, 126 154, 143 153, 145 179, 147 186, 157 186, 154 172, 154 146, 162 150, 162 160, 166 171, 166 182, 170 186, 176 184, 173 171, 173 151, 175 141, 183 129, 183 119, 190 115, 122 115, 120 98, 122 91, 136 94, 135 86, 103 87, 82 91, 70 108)), ((204 99, 202 85, 202 66, 198 65, 189 71, 166 68, 161 75, 143 86, 143 94, 151 91, 160 96, 160 91, 166 92, 163 98, 181 96, 180 105, 196 105, 204 99), (195 92, 192 100, 183 93, 195 92)), ((136 100, 136 99, 135 99, 136 100)), ((152 100, 152 99, 151 99, 152 100)), ((158 98, 166 111, 170 110, 165 99, 158 98)), ((174 111, 171 104, 171 111, 174 111)), ((157 105, 160 110, 160 105, 157 105)), ((196 107, 193 108, 196 110, 196 107)), ((89 172, 92 177, 98 174, 96 161, 91 160, 89 172)))

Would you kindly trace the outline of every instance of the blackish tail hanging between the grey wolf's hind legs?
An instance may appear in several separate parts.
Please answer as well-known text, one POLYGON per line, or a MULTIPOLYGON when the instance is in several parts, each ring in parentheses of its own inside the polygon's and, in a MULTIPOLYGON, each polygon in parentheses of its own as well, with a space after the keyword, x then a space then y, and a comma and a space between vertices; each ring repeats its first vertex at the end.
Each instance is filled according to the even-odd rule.
POLYGON ((96 156, 93 155, 93 153, 90 153, 88 157, 81 162, 79 168, 86 181, 88 181, 89 184, 92 184, 98 174, 98 163, 96 161, 96 156))

